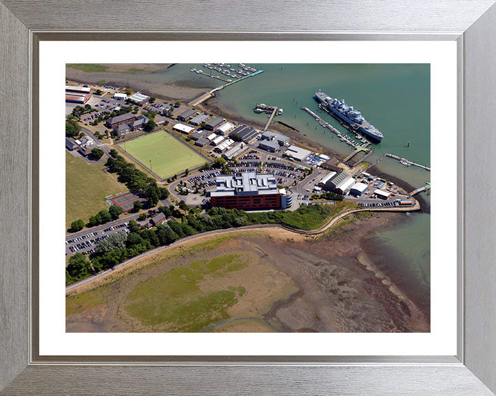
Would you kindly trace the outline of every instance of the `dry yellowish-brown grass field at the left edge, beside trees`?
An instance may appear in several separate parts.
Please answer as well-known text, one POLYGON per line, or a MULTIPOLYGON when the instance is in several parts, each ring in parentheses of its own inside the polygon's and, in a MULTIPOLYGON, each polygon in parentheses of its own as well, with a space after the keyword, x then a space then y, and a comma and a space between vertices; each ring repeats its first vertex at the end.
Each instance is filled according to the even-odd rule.
POLYGON ((128 192, 114 173, 105 173, 103 164, 87 164, 65 151, 65 229, 77 219, 87 222, 102 209, 105 197, 128 192))

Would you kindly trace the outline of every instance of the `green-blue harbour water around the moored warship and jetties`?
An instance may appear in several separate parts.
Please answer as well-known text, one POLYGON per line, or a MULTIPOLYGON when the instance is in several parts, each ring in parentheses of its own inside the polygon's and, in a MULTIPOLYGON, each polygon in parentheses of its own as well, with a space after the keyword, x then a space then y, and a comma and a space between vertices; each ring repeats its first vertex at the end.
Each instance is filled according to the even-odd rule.
MULTIPOLYGON (((311 115, 302 111, 305 106, 335 126, 347 131, 331 115, 318 109, 313 99, 321 89, 332 98, 344 99, 384 135, 375 144, 375 153, 367 162, 373 162, 383 153, 391 153, 417 164, 431 165, 431 69, 428 64, 257 64, 251 65, 264 72, 247 78, 221 91, 218 102, 231 112, 247 120, 265 122, 267 115, 255 114, 258 102, 284 109, 276 121, 298 129, 309 140, 347 155, 352 148, 340 142, 333 133, 322 128, 311 115), (410 146, 407 143, 410 141, 410 146)), ((237 64, 231 66, 237 67, 237 64)), ((187 87, 212 89, 224 83, 189 70, 209 69, 199 64, 175 65, 161 72, 134 75, 153 82, 169 82, 187 87)), ((212 72, 212 74, 217 74, 212 72)), ((229 77, 225 77, 229 78, 229 77)), ((234 80, 234 79, 233 79, 234 80)), ((411 166, 407 168, 395 159, 384 158, 379 168, 418 188, 430 181, 430 173, 411 166)), ((427 202, 429 197, 423 195, 427 202)), ((374 237, 374 241, 402 257, 397 271, 430 286, 430 215, 411 214, 404 223, 374 237), (406 275, 408 274, 408 275, 406 275)))

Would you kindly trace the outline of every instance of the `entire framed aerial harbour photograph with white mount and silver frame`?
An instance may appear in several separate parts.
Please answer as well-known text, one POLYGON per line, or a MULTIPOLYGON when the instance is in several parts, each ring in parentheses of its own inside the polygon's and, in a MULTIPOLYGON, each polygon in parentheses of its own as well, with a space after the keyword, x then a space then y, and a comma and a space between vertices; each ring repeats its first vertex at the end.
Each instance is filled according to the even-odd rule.
POLYGON ((2 393, 493 395, 491 4, 402 34, 31 19, 2 43, 30 54, 6 119, 32 114, 5 144, 2 393))

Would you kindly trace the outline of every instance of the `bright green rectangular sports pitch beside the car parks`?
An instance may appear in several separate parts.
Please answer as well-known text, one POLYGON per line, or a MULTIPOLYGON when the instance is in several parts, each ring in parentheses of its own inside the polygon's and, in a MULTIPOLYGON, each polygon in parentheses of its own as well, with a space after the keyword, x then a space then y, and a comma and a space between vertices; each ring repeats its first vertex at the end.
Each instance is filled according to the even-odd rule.
POLYGON ((147 167, 151 159, 152 171, 163 179, 205 163, 205 158, 166 131, 145 135, 119 146, 147 167))

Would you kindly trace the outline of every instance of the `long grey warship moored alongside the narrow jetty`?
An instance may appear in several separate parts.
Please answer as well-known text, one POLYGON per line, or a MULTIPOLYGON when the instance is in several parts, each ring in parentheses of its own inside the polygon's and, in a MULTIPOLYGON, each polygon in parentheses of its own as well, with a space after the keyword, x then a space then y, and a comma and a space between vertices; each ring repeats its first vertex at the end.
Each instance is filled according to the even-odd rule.
POLYGON ((352 106, 348 106, 344 102, 344 99, 338 100, 331 98, 322 91, 316 92, 316 98, 318 102, 322 103, 322 105, 331 113, 331 115, 334 115, 335 118, 338 118, 338 120, 346 122, 352 129, 355 129, 366 137, 371 138, 371 140, 380 142, 382 137, 384 137, 382 132, 375 128, 375 126, 373 126, 370 122, 365 120, 360 111, 353 109, 352 106))

